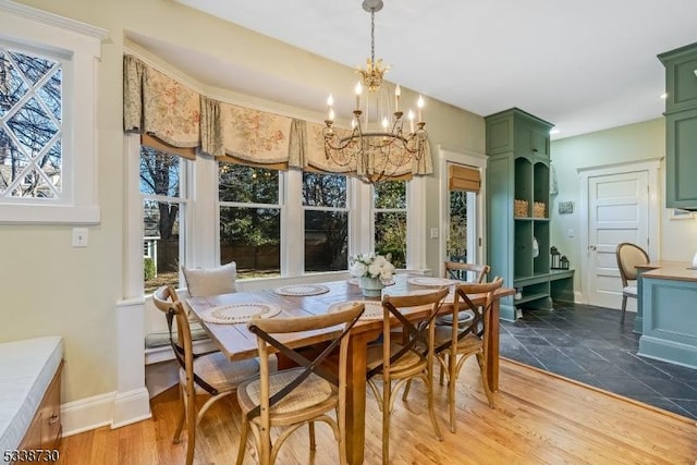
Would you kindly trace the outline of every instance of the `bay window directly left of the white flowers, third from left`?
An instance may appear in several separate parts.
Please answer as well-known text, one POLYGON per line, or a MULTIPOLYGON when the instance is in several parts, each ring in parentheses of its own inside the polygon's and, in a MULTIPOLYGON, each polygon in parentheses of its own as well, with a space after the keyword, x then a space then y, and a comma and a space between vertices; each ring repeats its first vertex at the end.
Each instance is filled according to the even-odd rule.
POLYGON ((346 176, 303 173, 305 271, 348 267, 346 176))

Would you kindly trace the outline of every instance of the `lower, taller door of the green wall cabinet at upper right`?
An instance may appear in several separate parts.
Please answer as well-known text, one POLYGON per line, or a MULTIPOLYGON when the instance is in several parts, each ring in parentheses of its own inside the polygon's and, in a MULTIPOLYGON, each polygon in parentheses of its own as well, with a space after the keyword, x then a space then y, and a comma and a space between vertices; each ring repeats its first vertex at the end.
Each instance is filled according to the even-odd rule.
POLYGON ((697 209, 697 109, 665 117, 665 206, 697 209))

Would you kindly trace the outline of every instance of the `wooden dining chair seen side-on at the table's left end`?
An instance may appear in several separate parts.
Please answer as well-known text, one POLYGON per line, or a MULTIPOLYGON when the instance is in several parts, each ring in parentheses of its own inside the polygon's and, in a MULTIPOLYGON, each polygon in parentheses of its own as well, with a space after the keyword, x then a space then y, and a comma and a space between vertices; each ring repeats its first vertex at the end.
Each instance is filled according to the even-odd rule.
POLYGON ((167 316, 170 344, 180 365, 179 387, 181 413, 172 442, 181 442, 182 429, 186 421, 186 464, 194 462, 196 427, 210 405, 229 395, 237 386, 259 372, 259 363, 255 359, 230 362, 220 352, 194 354, 192 333, 187 311, 171 285, 159 287, 152 294, 155 306, 167 316), (173 323, 176 322, 176 335, 173 323), (198 407, 197 396, 208 395, 198 407))

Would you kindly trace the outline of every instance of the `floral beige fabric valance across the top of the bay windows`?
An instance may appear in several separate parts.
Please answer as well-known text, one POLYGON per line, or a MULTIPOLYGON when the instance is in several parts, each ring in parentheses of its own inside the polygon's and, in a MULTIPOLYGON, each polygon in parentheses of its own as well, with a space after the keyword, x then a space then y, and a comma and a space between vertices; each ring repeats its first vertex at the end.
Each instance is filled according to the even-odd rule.
MULTIPOLYGON (((124 131, 148 135, 171 147, 200 148, 224 162, 272 169, 299 168, 330 173, 379 173, 383 155, 367 159, 328 158, 323 125, 222 102, 187 88, 174 78, 124 56, 124 131)), ((341 136, 348 130, 335 127, 341 136)), ((394 160, 387 172, 395 179, 433 172, 430 145, 420 159, 394 160)))

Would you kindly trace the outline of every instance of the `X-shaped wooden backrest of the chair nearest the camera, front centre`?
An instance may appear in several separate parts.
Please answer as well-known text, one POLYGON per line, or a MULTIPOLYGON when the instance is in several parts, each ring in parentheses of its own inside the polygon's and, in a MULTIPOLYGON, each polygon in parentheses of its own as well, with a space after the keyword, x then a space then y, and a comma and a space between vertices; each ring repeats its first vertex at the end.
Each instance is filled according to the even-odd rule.
MULTIPOLYGON (((348 334, 364 310, 364 304, 355 304, 343 310, 325 315, 296 318, 255 318, 249 321, 247 328, 257 335, 260 392, 259 405, 249 411, 247 418, 252 419, 260 415, 261 421, 268 426, 270 406, 290 394, 311 374, 318 375, 337 386, 340 405, 344 405, 346 394, 346 362, 348 359, 348 334), (343 325, 341 334, 332 340, 332 342, 311 360, 307 359, 302 353, 285 345, 282 342, 283 338, 274 338, 274 334, 282 335, 286 333, 313 331, 338 325, 343 325), (331 370, 322 367, 322 362, 327 359, 337 346, 339 346, 339 371, 338 375, 334 375, 331 370), (269 355, 277 351, 305 369, 289 380, 284 388, 277 391, 273 395, 269 395, 269 355)), ((344 419, 340 418, 339 420, 343 421, 344 419)))

